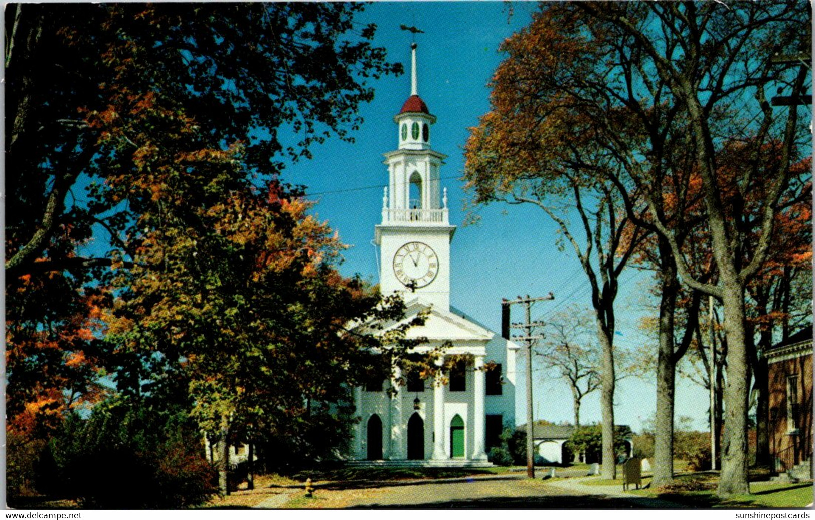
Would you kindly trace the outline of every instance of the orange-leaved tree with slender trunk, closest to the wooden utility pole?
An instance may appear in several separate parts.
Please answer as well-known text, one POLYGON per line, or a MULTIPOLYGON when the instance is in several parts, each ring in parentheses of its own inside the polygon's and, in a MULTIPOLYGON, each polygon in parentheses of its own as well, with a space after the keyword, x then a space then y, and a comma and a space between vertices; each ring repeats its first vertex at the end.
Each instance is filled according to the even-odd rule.
MULTIPOLYGON (((572 109, 572 102, 579 103, 579 99, 566 103, 561 97, 541 95, 539 78, 556 69, 573 66, 579 71, 588 65, 575 52, 575 43, 553 39, 555 32, 556 28, 536 21, 501 45, 508 57, 491 81, 491 111, 471 129, 465 147, 465 178, 474 203, 528 203, 543 210, 557 225, 558 242, 562 240, 575 252, 591 286, 602 352, 606 461, 602 473, 604 478, 615 478, 614 303, 619 276, 648 231, 632 226, 632 217, 625 212, 625 203, 637 197, 623 200, 608 175, 602 174, 618 164, 593 141, 593 118, 572 109)), ((556 76, 549 79, 557 81, 556 76)), ((619 120, 624 117, 619 114, 619 120)), ((635 130, 624 124, 619 129, 632 139, 641 138, 635 130)))

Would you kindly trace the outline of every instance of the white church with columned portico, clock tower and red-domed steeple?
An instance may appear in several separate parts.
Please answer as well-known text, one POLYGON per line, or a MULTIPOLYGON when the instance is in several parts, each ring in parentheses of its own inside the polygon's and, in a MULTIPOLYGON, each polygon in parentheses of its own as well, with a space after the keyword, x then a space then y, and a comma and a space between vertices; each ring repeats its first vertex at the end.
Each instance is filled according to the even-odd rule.
POLYGON ((428 341, 416 352, 449 342, 445 356, 468 355, 474 362, 460 364, 439 380, 444 384, 407 378, 401 387, 385 381, 355 388, 359 422, 349 458, 381 465, 487 465, 487 452, 503 426, 515 425, 519 347, 450 305, 450 247, 456 226, 450 224, 447 189, 440 181, 446 155, 432 147, 430 127, 436 117, 419 97, 416 83, 414 43, 412 90, 394 116, 399 146, 385 153, 388 186, 382 221, 374 229, 381 252, 381 293, 402 295, 407 306, 402 322, 429 312, 423 326, 408 330, 408 338, 428 341), (485 364, 495 368, 484 370, 485 364), (394 397, 389 387, 397 391, 394 397))

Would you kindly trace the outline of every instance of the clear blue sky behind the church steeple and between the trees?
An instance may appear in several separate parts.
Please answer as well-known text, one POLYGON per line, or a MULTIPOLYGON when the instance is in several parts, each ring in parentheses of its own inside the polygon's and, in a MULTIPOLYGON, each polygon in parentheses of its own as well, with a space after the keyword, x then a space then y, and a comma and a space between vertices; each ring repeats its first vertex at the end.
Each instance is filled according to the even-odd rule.
MULTIPOLYGON (((493 205, 478 208, 480 224, 462 226, 467 194, 460 181, 463 151, 469 127, 489 109, 487 86, 500 63, 498 46, 504 38, 531 20, 533 2, 375 2, 357 17, 359 28, 377 24, 374 43, 388 50, 391 61, 402 62, 406 74, 372 81, 375 98, 361 107, 364 123, 353 134, 354 143, 333 138, 313 149, 314 158, 286 168, 284 180, 308 186, 317 202, 315 213, 338 231, 350 246, 341 271, 360 273, 377 280, 377 256, 371 245, 373 226, 381 220, 382 186, 387 170, 382 154, 397 146, 393 116, 410 94, 410 42, 412 35, 400 24, 425 31, 418 43, 418 90, 430 112, 438 117, 432 129, 434 150, 446 154, 442 169, 447 187, 450 220, 459 225, 452 242, 452 305, 493 330, 500 328, 500 300, 515 295, 556 297, 533 308, 533 317, 546 316, 569 304, 590 303, 588 280, 571 250, 558 251, 555 227, 540 209, 493 205)), ((628 269, 618 297, 618 344, 634 346, 647 341, 637 330, 644 314, 656 312, 654 302, 643 296, 647 283, 641 273, 628 269)), ((513 321, 520 317, 513 317, 513 321)), ((516 416, 525 417, 520 393, 525 373, 519 367, 516 416)), ((554 422, 573 417, 571 393, 565 382, 547 378, 542 369, 535 376, 535 419, 554 422)), ((653 417, 653 378, 627 378, 616 392, 616 422, 641 429, 653 417)), ((690 416, 694 427, 707 424, 707 392, 677 378, 676 416, 690 416)), ((584 400, 581 422, 600 420, 599 394, 584 400)))

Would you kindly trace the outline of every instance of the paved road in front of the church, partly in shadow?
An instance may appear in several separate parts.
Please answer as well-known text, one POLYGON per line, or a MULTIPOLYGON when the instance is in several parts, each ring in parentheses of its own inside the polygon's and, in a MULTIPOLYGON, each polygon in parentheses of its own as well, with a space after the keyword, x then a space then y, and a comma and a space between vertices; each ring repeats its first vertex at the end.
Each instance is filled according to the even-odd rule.
MULTIPOLYGON (((565 482, 565 481, 564 481, 565 482)), ((662 506, 665 503, 661 504, 662 506)), ((500 480, 474 478, 467 482, 423 483, 386 487, 385 494, 350 504, 355 509, 641 509, 660 507, 645 500, 606 496, 602 490, 571 490, 525 475, 500 480)))

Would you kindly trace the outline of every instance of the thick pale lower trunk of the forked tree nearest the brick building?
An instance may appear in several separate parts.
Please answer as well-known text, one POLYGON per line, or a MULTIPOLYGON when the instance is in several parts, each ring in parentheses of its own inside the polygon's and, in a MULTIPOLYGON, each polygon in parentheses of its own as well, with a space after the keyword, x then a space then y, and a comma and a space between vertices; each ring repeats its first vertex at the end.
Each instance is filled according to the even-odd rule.
POLYGON ((722 443, 718 495, 750 493, 747 481, 747 350, 745 348, 744 290, 722 269, 722 303, 727 334, 727 385, 725 387, 725 438, 722 443))

